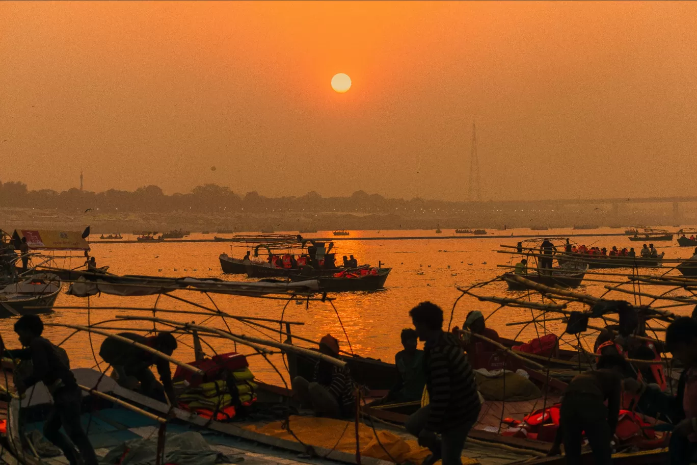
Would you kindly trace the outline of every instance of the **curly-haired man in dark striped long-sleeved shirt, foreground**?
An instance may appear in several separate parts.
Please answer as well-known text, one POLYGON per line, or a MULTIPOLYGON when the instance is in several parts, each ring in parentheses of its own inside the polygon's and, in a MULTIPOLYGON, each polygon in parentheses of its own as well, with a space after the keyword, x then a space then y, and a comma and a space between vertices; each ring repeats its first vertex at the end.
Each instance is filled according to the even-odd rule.
POLYGON ((443 465, 460 465, 467 434, 482 409, 472 367, 457 337, 443 332, 441 307, 422 302, 409 315, 419 340, 426 342, 424 370, 429 404, 409 417, 406 429, 431 450, 422 465, 438 460, 443 460, 443 465))

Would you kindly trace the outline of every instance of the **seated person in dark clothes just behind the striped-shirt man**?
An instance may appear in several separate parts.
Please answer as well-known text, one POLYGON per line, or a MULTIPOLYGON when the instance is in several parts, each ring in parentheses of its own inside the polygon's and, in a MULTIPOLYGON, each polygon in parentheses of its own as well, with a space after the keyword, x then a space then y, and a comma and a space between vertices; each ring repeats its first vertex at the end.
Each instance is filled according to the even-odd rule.
POLYGON ((426 384, 426 374, 424 373, 424 351, 416 348, 417 342, 415 330, 411 328, 401 330, 401 344, 404 350, 395 355, 399 379, 381 403, 412 402, 421 399, 426 384))

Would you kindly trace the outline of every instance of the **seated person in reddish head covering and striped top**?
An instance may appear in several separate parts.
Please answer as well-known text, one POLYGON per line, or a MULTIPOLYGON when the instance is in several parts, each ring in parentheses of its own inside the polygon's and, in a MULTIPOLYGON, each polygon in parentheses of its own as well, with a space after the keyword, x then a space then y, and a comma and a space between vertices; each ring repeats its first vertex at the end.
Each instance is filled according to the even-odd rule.
MULTIPOLYGON (((339 358, 339 341, 332 335, 325 335, 319 341, 319 351, 325 356, 339 358)), ((314 366, 312 381, 296 376, 291 384, 293 397, 300 406, 311 408, 316 416, 348 418, 355 414, 355 393, 348 365, 340 368, 319 360, 314 366)))

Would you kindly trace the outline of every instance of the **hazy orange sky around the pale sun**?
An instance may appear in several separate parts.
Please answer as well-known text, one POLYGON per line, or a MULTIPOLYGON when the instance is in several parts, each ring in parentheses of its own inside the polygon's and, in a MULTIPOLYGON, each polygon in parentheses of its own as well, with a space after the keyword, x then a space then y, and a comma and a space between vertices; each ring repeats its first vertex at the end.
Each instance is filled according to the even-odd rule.
POLYGON ((485 200, 694 193, 696 2, 3 1, 0 63, 31 189, 466 200, 475 121, 485 200))

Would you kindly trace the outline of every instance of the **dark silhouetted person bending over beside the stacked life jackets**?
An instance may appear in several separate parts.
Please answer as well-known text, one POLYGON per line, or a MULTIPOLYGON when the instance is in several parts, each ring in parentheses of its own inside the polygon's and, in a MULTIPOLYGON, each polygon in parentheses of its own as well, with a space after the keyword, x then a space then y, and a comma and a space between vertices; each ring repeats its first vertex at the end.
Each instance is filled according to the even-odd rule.
MULTIPOLYGON (((134 333, 118 333, 118 336, 152 347, 168 356, 171 356, 177 347, 176 339, 174 339, 171 333, 160 333, 151 337, 144 337, 134 333)), ((140 389, 143 395, 159 400, 162 399, 162 390, 164 389, 164 394, 167 395, 169 403, 176 406, 177 401, 174 394, 174 386, 172 385, 169 360, 139 349, 139 347, 133 344, 117 340, 114 337, 107 337, 102 342, 99 355, 106 363, 112 365, 114 372, 118 375, 119 385, 125 388, 133 388, 134 386, 132 386, 130 380, 135 378, 140 382, 140 389), (150 370, 152 365, 158 368, 162 386, 160 386, 160 383, 158 383, 155 375, 150 370)))

